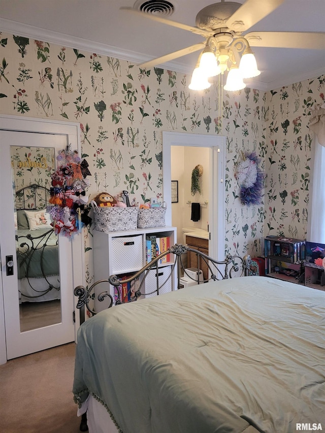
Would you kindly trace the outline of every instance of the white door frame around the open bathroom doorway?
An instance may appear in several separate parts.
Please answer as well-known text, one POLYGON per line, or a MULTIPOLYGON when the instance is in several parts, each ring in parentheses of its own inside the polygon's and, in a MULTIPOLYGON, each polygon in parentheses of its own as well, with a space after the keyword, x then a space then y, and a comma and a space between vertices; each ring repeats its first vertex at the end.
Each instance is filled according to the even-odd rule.
POLYGON ((172 225, 171 146, 209 147, 209 255, 223 260, 225 137, 163 131, 163 194, 167 204, 167 225, 172 225))

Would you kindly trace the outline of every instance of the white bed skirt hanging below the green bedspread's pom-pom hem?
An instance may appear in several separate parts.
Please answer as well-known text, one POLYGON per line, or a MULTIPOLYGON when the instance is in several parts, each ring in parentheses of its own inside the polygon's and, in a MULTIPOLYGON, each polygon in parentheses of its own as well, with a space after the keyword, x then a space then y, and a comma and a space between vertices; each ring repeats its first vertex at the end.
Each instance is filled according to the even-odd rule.
POLYGON ((86 411, 89 433, 116 433, 118 431, 105 407, 92 395, 89 395, 78 409, 77 415, 81 416, 86 411))

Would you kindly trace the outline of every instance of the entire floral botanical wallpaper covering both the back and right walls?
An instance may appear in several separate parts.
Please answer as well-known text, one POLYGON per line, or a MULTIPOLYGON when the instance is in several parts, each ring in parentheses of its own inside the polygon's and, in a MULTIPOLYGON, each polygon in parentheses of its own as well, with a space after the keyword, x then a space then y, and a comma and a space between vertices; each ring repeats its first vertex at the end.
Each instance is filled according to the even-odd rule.
MULTIPOLYGON (((260 253, 268 234, 305 238, 311 176, 309 112, 324 100, 325 76, 272 91, 188 89, 190 76, 140 69, 117 58, 0 34, 2 114, 80 122, 90 197, 127 189, 162 200, 162 131, 226 137, 225 252, 260 253), (244 206, 235 178, 244 154, 264 175, 261 204, 244 206)), ((92 229, 85 233, 87 281, 92 229)))

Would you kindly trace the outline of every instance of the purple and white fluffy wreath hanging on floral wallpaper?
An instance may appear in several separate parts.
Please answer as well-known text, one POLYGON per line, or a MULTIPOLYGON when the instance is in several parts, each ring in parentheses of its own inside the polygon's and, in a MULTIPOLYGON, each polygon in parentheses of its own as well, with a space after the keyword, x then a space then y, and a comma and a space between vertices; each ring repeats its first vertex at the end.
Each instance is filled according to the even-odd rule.
POLYGON ((238 164, 235 177, 240 186, 239 198, 243 205, 260 205, 263 194, 263 173, 258 168, 258 157, 255 152, 244 155, 238 164))

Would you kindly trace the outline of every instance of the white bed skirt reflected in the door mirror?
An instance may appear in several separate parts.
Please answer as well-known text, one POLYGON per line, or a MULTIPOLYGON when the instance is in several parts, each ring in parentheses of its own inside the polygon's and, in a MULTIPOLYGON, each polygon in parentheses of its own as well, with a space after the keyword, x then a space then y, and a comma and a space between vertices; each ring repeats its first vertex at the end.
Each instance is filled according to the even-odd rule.
POLYGON ((19 290, 19 303, 22 302, 44 302, 44 301, 53 301, 53 299, 60 299, 61 294, 60 290, 56 290, 54 287, 59 287, 59 275, 52 275, 51 277, 47 277, 47 281, 44 281, 43 278, 29 278, 30 285, 36 289, 37 291, 42 292, 44 287, 48 287, 48 284, 53 285, 53 289, 47 292, 46 294, 39 297, 28 297, 28 296, 37 296, 41 293, 33 290, 27 278, 22 278, 18 280, 18 290, 19 290), (24 296, 24 293, 27 296, 24 296))

